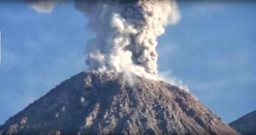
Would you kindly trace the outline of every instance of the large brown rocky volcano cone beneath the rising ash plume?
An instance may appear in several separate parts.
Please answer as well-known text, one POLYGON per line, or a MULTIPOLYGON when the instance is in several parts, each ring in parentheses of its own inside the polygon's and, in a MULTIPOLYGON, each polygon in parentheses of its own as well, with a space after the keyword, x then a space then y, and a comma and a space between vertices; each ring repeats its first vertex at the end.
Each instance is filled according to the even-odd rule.
POLYGON ((64 81, 0 127, 0 134, 237 134, 185 90, 119 73, 64 81))

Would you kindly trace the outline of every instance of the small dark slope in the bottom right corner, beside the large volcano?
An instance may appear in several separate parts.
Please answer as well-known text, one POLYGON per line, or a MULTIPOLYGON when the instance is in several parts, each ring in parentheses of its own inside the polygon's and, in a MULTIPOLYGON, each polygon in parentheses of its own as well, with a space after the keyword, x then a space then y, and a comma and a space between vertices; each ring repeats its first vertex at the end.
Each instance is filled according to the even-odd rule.
POLYGON ((229 124, 241 134, 256 134, 256 110, 229 124))

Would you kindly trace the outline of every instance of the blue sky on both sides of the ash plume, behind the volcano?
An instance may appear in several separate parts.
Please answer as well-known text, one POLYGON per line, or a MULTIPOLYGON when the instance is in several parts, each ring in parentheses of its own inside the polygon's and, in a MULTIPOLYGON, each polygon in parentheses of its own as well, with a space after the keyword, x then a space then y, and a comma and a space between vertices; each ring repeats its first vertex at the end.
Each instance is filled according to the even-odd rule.
MULTIPOLYGON (((227 123, 256 109, 256 2, 178 2, 182 18, 158 38, 158 70, 170 73, 227 123)), ((0 124, 86 70, 92 33, 72 3, 40 14, 0 4, 0 124)))

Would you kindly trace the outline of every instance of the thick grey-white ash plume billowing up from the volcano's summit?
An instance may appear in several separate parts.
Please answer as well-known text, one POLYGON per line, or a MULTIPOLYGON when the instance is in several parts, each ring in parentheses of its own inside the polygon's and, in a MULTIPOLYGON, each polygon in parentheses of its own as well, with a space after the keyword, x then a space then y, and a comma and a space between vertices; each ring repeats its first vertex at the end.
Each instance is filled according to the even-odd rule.
MULTIPOLYGON (((31 1, 31 0, 30 0, 31 1)), ((175 1, 76 1, 95 37, 86 45, 89 70, 157 79, 157 37, 179 20, 175 1)))

